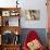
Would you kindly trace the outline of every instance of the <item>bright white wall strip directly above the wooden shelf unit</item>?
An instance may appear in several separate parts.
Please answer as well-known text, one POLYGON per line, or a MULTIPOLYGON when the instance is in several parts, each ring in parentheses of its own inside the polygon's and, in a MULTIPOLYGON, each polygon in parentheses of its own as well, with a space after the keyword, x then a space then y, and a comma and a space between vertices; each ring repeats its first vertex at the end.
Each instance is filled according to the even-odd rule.
POLYGON ((16 5, 16 0, 0 0, 0 8, 13 8, 16 5))

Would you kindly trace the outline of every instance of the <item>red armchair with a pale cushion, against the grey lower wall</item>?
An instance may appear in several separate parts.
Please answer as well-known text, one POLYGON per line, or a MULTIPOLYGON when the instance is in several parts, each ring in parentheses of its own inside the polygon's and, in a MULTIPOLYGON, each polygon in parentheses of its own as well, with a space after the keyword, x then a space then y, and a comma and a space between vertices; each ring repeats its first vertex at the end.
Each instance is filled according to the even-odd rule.
MULTIPOLYGON (((29 34, 27 35, 27 38, 24 41, 23 50, 29 50, 27 43, 32 42, 32 41, 35 41, 35 39, 38 40, 39 45, 40 45, 37 50, 45 50, 43 46, 40 43, 40 38, 39 38, 39 36, 37 35, 37 33, 35 30, 29 32, 29 34)), ((32 50, 34 50, 34 49, 32 49, 32 50)))

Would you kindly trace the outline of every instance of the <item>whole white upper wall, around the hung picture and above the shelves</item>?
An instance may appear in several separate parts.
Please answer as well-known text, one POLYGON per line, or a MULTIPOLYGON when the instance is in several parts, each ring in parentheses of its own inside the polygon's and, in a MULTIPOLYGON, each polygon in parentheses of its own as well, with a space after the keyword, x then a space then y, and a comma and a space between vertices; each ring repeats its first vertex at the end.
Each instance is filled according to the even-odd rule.
MULTIPOLYGON (((0 7, 16 7, 16 0, 0 0, 0 7)), ((21 26, 22 28, 47 28, 47 7, 46 0, 18 0, 22 10, 33 9, 40 11, 39 21, 26 21, 24 11, 22 12, 21 26)))

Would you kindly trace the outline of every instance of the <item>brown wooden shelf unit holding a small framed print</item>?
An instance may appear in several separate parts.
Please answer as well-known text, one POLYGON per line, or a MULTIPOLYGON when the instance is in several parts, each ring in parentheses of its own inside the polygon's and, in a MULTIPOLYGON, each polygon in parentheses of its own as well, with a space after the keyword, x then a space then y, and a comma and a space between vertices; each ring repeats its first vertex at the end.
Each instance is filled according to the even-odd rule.
MULTIPOLYGON (((5 30, 11 30, 15 35, 16 34, 17 35, 21 34, 21 27, 20 27, 20 8, 0 8, 0 16, 1 16, 1 26, 0 26, 0 34, 1 34, 1 36, 2 36, 3 32, 5 32, 5 30), (14 12, 12 12, 12 11, 14 11, 14 12), (4 13, 3 15, 2 15, 2 12, 4 13), (18 13, 18 14, 17 15, 16 14, 15 15, 11 15, 11 13, 18 13), (13 17, 18 17, 18 24, 17 24, 18 26, 10 26, 10 24, 9 24, 9 17, 12 17, 12 18, 13 17), (5 21, 5 23, 4 23, 4 21, 5 21)), ((1 42, 0 46, 1 46, 0 47, 1 50, 15 50, 15 49, 20 50, 20 46, 17 43, 16 45, 10 43, 10 45, 5 45, 4 46, 4 43, 1 42)))

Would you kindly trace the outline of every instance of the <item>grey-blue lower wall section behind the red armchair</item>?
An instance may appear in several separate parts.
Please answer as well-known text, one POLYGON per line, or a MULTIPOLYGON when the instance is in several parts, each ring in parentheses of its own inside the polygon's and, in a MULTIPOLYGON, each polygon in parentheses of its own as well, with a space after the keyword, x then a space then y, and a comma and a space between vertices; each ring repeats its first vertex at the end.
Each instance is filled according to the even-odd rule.
POLYGON ((26 39, 26 36, 28 35, 28 33, 30 30, 35 30, 39 35, 42 45, 45 47, 47 47, 47 33, 46 33, 46 28, 23 28, 22 29, 22 35, 21 35, 21 43, 22 43, 22 46, 23 46, 23 43, 24 43, 24 41, 26 39))

